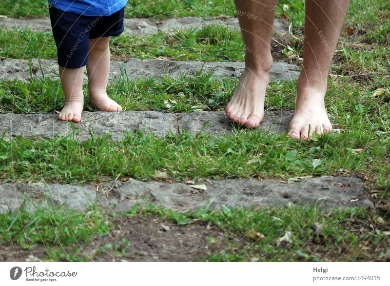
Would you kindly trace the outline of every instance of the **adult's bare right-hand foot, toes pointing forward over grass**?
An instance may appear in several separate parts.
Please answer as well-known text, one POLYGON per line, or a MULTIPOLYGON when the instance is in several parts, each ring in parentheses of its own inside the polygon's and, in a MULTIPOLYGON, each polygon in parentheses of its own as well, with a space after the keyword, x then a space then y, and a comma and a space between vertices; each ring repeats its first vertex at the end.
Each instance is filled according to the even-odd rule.
POLYGON ((295 139, 312 139, 312 133, 318 135, 332 130, 325 108, 326 87, 316 88, 306 82, 297 82, 298 95, 295 114, 290 122, 289 135, 295 139))

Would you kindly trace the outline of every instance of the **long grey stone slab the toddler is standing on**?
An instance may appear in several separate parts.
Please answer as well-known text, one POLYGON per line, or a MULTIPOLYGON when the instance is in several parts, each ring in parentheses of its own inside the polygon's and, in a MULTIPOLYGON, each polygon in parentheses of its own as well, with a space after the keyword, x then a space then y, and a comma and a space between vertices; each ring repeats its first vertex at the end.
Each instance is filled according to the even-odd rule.
MULTIPOLYGON (((90 139, 90 130, 95 135, 109 133, 111 140, 121 140, 123 132, 141 130, 165 136, 170 131, 176 133, 176 116, 156 111, 126 112, 83 112, 81 123, 75 123, 76 138, 79 141, 90 139)), ((6 132, 5 139, 22 136, 24 138, 54 138, 72 134, 69 122, 58 120, 58 114, 0 114, 0 133, 6 132)), ((73 135, 70 135, 73 138, 73 135)))

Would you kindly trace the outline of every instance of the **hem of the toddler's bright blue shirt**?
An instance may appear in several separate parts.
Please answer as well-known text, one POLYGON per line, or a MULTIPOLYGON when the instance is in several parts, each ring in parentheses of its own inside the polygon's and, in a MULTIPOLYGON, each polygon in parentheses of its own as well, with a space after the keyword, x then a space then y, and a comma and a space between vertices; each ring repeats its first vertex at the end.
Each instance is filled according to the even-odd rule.
POLYGON ((110 16, 122 9, 127 0, 48 0, 59 10, 83 16, 110 16))

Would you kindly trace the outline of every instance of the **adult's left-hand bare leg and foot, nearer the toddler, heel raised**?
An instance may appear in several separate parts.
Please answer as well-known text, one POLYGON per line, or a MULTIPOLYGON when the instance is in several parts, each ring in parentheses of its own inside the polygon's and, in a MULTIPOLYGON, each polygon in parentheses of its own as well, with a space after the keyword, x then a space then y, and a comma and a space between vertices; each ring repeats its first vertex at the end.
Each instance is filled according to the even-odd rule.
POLYGON ((236 123, 256 127, 264 117, 264 97, 272 67, 271 37, 277 0, 235 0, 245 43, 245 70, 226 107, 236 123))

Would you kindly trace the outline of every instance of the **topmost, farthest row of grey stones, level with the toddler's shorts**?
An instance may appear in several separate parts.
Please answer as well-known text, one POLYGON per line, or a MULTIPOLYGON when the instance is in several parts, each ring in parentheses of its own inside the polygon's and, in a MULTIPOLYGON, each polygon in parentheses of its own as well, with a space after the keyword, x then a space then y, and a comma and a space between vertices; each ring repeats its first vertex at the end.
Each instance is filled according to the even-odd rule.
MULTIPOLYGON (((131 18, 125 19, 125 31, 126 35, 154 35, 158 32, 173 32, 177 29, 194 29, 200 28, 204 25, 223 25, 231 27, 233 29, 239 29, 238 19, 234 17, 227 18, 199 18, 199 17, 184 17, 184 18, 171 18, 166 20, 153 20, 146 18, 131 18)), ((1 26, 7 29, 21 28, 31 29, 34 32, 51 32, 50 19, 48 18, 0 18, 1 26)), ((286 24, 280 20, 275 19, 273 24, 274 31, 278 33, 287 33, 286 24)))

